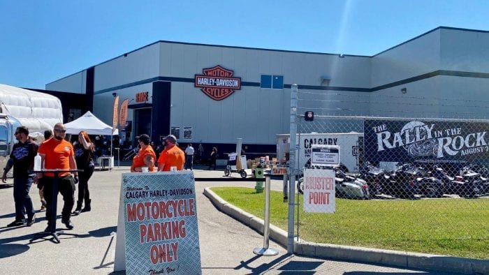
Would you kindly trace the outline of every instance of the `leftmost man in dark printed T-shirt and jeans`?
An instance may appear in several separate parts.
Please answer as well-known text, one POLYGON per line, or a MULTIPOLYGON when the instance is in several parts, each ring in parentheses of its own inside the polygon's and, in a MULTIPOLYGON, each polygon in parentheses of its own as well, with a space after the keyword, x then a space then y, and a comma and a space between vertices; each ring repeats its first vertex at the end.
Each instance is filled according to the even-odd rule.
POLYGON ((6 182, 7 172, 13 166, 13 199, 15 202, 15 221, 9 223, 7 227, 24 225, 25 214, 27 213, 27 226, 36 222, 36 212, 32 205, 29 190, 34 182, 34 156, 37 154, 38 146, 29 139, 29 129, 24 126, 17 127, 15 138, 19 141, 13 145, 12 153, 7 165, 3 170, 1 180, 6 182))

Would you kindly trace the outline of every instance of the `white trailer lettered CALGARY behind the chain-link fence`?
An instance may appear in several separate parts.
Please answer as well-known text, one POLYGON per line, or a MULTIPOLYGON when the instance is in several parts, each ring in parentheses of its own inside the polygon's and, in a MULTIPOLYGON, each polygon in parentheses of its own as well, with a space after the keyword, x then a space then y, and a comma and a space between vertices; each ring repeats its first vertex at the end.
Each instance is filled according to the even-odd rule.
MULTIPOLYGON (((363 133, 301 133, 295 139, 298 149, 298 168, 303 168, 311 158, 313 144, 340 146, 340 163, 350 172, 358 172, 359 145, 363 142, 363 133)), ((284 161, 289 156, 291 139, 289 134, 277 135, 277 159, 284 161)))

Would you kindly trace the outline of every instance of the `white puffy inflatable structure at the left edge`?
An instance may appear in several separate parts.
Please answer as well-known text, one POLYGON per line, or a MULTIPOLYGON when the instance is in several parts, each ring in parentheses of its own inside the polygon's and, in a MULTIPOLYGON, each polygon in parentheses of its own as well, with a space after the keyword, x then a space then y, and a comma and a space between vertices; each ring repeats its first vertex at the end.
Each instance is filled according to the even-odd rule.
POLYGON ((54 124, 63 122, 61 101, 56 96, 0 84, 0 113, 10 114, 31 137, 43 136, 54 124))

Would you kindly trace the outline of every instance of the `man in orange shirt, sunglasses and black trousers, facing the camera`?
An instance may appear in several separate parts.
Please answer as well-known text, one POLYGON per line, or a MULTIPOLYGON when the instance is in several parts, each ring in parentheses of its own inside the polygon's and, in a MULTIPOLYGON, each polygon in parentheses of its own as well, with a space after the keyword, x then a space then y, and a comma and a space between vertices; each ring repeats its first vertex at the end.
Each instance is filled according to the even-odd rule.
MULTIPOLYGON (((64 124, 58 123, 54 125, 54 137, 47 140, 39 146, 38 153, 43 159, 45 169, 71 170, 77 169, 75 162, 75 152, 73 145, 64 140, 66 136, 66 127, 64 124)), ((75 204, 75 184, 78 184, 78 172, 73 172, 75 177, 71 176, 70 172, 59 172, 58 190, 63 195, 64 206, 61 211, 61 223, 66 225, 66 228, 73 229, 74 225, 70 221, 71 210, 75 204)), ((51 203, 52 200, 57 200, 57 194, 52 198, 52 184, 54 181, 54 173, 46 172, 38 174, 38 177, 43 177, 44 198, 48 202, 46 207, 46 220, 48 228, 45 232, 51 230, 51 203)))

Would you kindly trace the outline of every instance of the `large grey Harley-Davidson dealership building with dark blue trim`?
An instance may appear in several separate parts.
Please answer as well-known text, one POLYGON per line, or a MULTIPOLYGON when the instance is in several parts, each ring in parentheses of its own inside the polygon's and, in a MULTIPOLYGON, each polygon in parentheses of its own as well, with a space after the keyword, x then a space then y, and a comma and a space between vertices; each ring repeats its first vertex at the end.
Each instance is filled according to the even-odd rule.
POLYGON ((486 118, 488 49, 488 31, 450 27, 374 56, 158 41, 45 88, 85 94, 110 125, 115 96, 128 99, 122 140, 173 133, 224 153, 242 138, 249 151, 275 152, 276 135, 289 133, 291 84, 328 94, 321 108, 331 114, 486 118))

